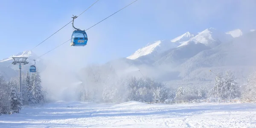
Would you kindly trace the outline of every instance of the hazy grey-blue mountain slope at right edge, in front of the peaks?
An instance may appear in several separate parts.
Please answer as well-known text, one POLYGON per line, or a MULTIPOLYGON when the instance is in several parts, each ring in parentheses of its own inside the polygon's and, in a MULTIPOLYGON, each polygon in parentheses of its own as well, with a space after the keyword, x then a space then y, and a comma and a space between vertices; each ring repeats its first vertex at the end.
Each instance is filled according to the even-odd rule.
MULTIPOLYGON (((209 69, 216 73, 232 70, 236 78, 246 77, 256 69, 255 47, 256 32, 250 32, 233 41, 206 49, 180 64, 180 77, 192 79, 210 79, 209 69)), ((240 81, 243 82, 243 81, 240 81)))

